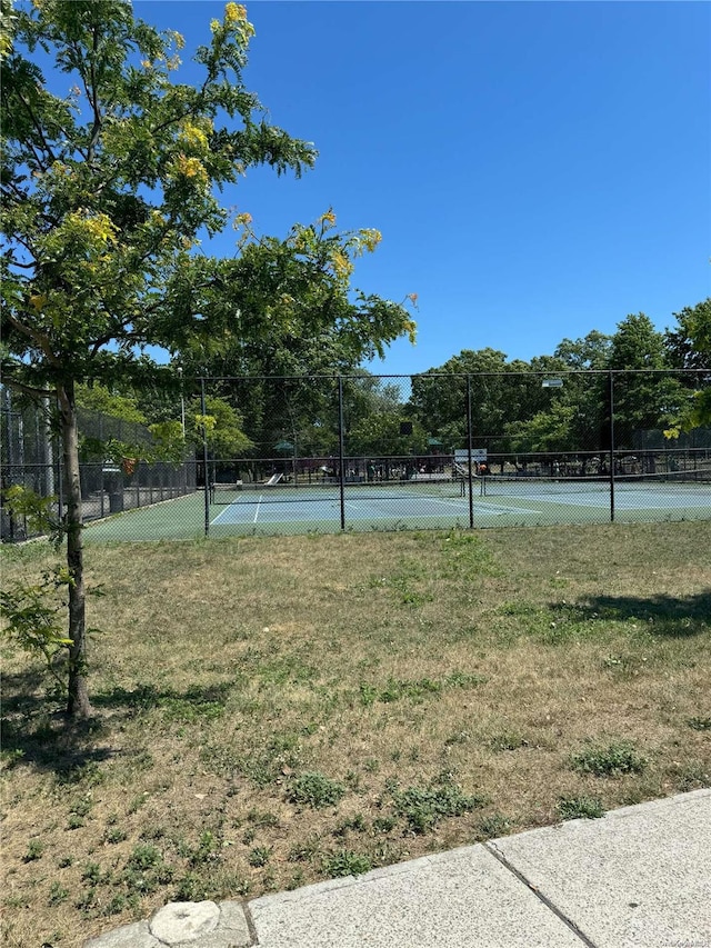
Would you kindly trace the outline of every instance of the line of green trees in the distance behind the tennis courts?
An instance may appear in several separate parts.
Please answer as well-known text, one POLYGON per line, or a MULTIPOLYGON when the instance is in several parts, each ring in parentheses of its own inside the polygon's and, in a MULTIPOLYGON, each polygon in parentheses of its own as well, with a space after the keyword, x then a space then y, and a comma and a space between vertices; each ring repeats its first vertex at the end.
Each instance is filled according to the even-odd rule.
MULTIPOLYGON (((674 318, 661 332, 644 313, 630 315, 613 335, 592 330, 563 339, 552 355, 528 361, 491 348, 462 349, 411 380, 371 375, 360 367, 362 351, 342 345, 336 330, 314 340, 306 326, 292 326, 288 337, 263 347, 242 345, 202 359, 181 353, 182 405, 176 390, 160 390, 116 399, 113 410, 122 406, 130 417, 138 410, 153 426, 174 423, 182 411, 188 440, 201 443, 194 378, 207 377, 216 457, 264 458, 276 456, 278 445, 292 446, 299 457, 332 456, 339 451, 341 375, 348 455, 425 455, 433 446, 450 451, 467 443, 469 385, 477 445, 494 452, 562 452, 609 447, 612 370, 617 443, 631 448, 641 430, 663 430, 673 440, 711 423, 711 299, 674 318), (685 369, 698 371, 679 371, 685 369), (545 378, 563 385, 545 388, 545 378), (408 433, 403 421, 411 425, 408 433)), ((80 399, 106 405, 99 389, 83 390, 80 399)))

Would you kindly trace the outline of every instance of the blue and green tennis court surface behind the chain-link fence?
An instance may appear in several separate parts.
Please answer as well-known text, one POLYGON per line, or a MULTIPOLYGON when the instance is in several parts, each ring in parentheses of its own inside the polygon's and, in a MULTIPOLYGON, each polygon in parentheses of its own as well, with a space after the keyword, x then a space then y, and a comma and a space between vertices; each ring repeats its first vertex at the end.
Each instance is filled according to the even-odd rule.
MULTIPOLYGON (((443 480, 277 487, 218 485, 208 511, 210 537, 350 530, 604 523, 611 519, 604 479, 489 477, 467 485, 443 480)), ((614 520, 654 522, 711 519, 711 483, 620 480, 614 520)), ((88 541, 189 539, 206 535, 204 495, 131 510, 87 527, 88 541)))

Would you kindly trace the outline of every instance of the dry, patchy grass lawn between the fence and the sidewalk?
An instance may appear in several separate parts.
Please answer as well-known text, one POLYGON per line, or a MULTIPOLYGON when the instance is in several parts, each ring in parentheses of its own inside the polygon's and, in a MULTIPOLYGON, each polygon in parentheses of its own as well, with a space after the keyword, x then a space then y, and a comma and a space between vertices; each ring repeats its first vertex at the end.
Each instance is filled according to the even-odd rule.
MULTIPOLYGON (((711 523, 92 546, 96 719, 3 648, 3 939, 711 786, 711 523)), ((2 550, 3 581, 44 545, 2 550)))

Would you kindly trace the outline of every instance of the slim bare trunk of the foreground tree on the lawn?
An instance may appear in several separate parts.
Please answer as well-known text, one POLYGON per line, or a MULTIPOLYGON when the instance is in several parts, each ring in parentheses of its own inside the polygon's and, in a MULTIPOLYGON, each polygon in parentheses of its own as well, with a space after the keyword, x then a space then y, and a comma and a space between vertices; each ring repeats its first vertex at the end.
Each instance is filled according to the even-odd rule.
POLYGON ((81 518, 81 482, 79 479, 79 432, 73 382, 58 389, 61 410, 62 448, 64 460, 64 502, 67 532, 67 567, 69 570, 69 681, 67 714, 88 718, 92 714, 87 689, 87 627, 81 518))

